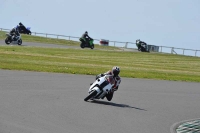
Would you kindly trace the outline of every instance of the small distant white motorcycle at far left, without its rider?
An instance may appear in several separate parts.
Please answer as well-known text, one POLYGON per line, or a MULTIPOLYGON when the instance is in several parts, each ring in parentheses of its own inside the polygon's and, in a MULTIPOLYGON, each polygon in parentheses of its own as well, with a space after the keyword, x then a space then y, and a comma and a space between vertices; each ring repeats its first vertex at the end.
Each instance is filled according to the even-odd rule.
POLYGON ((17 36, 17 37, 13 37, 12 35, 10 35, 9 33, 6 33, 6 39, 5 39, 5 43, 6 44, 10 44, 10 43, 15 43, 18 45, 22 44, 22 39, 21 39, 21 35, 17 36))

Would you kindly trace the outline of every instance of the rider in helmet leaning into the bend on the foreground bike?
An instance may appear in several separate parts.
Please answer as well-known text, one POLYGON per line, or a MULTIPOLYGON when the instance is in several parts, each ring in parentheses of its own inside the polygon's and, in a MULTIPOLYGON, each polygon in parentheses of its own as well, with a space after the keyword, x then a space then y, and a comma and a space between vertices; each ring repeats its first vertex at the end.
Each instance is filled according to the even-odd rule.
POLYGON ((104 74, 99 74, 96 76, 96 79, 98 79, 100 77, 103 77, 104 75, 112 75, 115 80, 114 86, 112 87, 111 91, 108 92, 108 94, 105 96, 108 101, 112 100, 114 92, 118 90, 119 85, 121 83, 121 78, 119 76, 119 73, 120 73, 120 68, 118 66, 114 66, 112 70, 109 70, 104 74))

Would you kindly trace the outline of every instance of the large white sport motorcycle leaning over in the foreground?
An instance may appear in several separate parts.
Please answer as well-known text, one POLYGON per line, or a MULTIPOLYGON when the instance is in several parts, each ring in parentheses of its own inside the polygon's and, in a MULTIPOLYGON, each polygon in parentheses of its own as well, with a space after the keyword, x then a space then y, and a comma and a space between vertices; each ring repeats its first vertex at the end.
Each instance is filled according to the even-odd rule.
POLYGON ((115 80, 112 75, 104 75, 103 77, 98 78, 89 88, 89 95, 84 99, 84 101, 94 100, 94 99, 103 99, 106 94, 108 94, 115 80))

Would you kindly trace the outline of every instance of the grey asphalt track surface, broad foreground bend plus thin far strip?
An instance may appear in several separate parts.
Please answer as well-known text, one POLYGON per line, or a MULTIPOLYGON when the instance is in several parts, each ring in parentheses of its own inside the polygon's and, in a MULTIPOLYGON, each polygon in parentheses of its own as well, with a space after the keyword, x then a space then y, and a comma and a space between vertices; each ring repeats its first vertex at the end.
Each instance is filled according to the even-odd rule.
POLYGON ((122 77, 111 102, 84 102, 93 81, 0 70, 0 133, 170 133, 200 117, 200 83, 122 77))

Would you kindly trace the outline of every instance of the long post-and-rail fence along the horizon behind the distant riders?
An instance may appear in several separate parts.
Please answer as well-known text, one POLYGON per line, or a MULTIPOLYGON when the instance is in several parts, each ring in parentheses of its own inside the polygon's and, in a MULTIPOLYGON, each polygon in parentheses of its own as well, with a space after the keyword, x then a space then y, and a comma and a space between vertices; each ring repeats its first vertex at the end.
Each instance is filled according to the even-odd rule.
MULTIPOLYGON (((9 31, 9 29, 0 28, 0 31, 9 31)), ((74 36, 38 33, 38 32, 32 32, 32 35, 46 37, 46 38, 48 37, 48 38, 55 38, 55 39, 72 40, 72 41, 79 41, 79 38, 80 38, 80 37, 74 37, 74 36)), ((94 39, 95 44, 98 44, 99 41, 100 41, 99 39, 94 39)), ((133 43, 133 42, 109 41, 109 46, 122 47, 126 49, 137 49, 136 43, 133 43)), ((175 48, 175 47, 168 47, 168 46, 158 46, 158 47, 159 47, 158 52, 160 53, 170 53, 170 54, 200 57, 200 50, 175 48)), ((153 50, 150 49, 150 51, 153 51, 153 50)))

